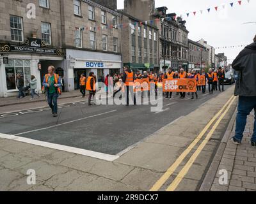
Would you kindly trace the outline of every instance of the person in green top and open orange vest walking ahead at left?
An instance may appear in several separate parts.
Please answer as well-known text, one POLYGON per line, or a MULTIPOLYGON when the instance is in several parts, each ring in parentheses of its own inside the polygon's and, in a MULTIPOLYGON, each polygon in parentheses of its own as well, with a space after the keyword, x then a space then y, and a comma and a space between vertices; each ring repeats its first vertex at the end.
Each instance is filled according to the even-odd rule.
POLYGON ((54 66, 48 67, 48 74, 44 77, 42 91, 47 94, 47 103, 52 110, 53 117, 58 117, 58 96, 61 94, 61 81, 54 70, 54 66))

